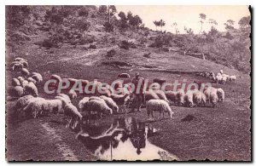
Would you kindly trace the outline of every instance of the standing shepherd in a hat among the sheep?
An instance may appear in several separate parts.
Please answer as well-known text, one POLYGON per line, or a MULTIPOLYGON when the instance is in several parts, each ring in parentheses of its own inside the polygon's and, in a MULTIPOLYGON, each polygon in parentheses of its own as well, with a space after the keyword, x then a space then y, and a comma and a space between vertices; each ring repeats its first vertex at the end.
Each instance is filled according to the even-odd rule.
POLYGON ((144 92, 144 83, 145 83, 145 79, 143 77, 139 77, 140 74, 137 72, 135 74, 135 77, 132 79, 131 83, 134 84, 134 91, 132 92, 132 94, 134 94, 135 97, 135 101, 133 101, 133 105, 131 107, 131 112, 134 111, 135 106, 137 104, 137 111, 140 112, 140 108, 142 106, 142 104, 145 104, 145 92, 144 92))

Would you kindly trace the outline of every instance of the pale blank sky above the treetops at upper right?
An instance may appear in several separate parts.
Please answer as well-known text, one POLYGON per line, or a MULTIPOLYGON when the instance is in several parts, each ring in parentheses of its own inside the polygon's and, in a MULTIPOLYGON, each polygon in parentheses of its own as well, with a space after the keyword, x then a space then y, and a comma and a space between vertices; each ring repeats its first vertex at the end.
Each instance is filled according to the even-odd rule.
MULTIPOLYGON (((177 22, 177 28, 180 33, 184 33, 184 26, 191 28, 195 34, 199 33, 201 29, 201 23, 199 22, 199 14, 206 14, 206 23, 203 24, 203 31, 209 31, 211 29, 208 24, 209 19, 216 20, 218 25, 215 26, 218 31, 225 31, 224 23, 227 20, 235 20, 235 27, 238 28, 238 21, 243 16, 250 15, 247 6, 129 6, 122 5, 116 6, 118 13, 120 11, 131 11, 132 14, 139 15, 145 26, 155 30, 154 20, 165 20, 166 26, 163 27, 163 31, 171 31, 175 33, 175 29, 172 26, 173 22, 177 22)), ((158 27, 160 30, 160 27, 158 27)))

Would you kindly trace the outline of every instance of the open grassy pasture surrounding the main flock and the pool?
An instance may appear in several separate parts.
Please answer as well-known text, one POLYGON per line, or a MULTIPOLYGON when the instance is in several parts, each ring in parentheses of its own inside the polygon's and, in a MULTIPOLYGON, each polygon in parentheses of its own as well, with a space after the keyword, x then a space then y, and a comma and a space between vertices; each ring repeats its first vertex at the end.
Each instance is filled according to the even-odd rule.
MULTIPOLYGON (((44 33, 32 37, 31 41, 17 47, 14 52, 7 50, 7 89, 9 89, 10 78, 19 75, 9 70, 10 62, 17 56, 28 60, 29 70, 40 72, 44 81, 47 81, 51 74, 58 74, 61 77, 97 79, 102 83, 111 83, 121 72, 128 72, 132 77, 135 72, 140 72, 149 81, 158 77, 170 83, 183 79, 187 79, 190 83, 192 81, 207 83, 207 78, 195 76, 194 72, 219 72, 223 69, 230 75, 236 74, 239 77, 235 83, 212 84, 213 87, 220 87, 225 92, 224 102, 218 103, 215 108, 209 104, 207 107, 195 108, 172 106, 174 112, 172 118, 152 122, 147 120, 147 113, 143 108, 142 112, 120 113, 104 117, 100 123, 109 124, 113 119, 120 117, 135 117, 138 121, 157 130, 157 135, 148 137, 148 141, 174 155, 177 160, 251 160, 251 78, 249 75, 209 60, 158 49, 125 50, 106 44, 99 44, 97 49, 89 50, 84 50, 84 46, 73 49, 68 44, 61 49, 44 49, 33 44, 42 37, 44 33), (107 50, 113 48, 117 49, 116 56, 107 58, 107 50), (147 52, 152 53, 149 60, 143 57, 147 52), (102 65, 102 62, 105 65, 102 65), (116 65, 117 62, 125 62, 123 64, 126 65, 119 66, 116 65)), ((54 94, 44 94, 43 86, 44 83, 38 88, 40 96, 53 98, 54 94)), ((79 94, 73 104, 78 106, 82 97, 83 95, 79 94)), ((84 146, 83 141, 76 139, 77 132, 65 127, 62 114, 20 121, 12 116, 15 112, 14 105, 15 100, 7 98, 6 157, 9 161, 103 159, 91 151, 90 147, 84 146)), ((142 155, 147 150, 146 146, 142 155)))

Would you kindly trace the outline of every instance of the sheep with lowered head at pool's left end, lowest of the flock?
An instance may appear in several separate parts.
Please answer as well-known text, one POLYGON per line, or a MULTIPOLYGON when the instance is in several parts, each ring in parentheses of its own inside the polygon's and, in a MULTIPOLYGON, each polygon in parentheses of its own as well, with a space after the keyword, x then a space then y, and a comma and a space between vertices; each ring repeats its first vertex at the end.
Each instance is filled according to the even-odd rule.
POLYGON ((78 124, 81 123, 83 117, 78 111, 77 107, 73 106, 73 104, 71 103, 64 106, 64 115, 69 117, 66 127, 70 127, 71 129, 77 129, 78 124))

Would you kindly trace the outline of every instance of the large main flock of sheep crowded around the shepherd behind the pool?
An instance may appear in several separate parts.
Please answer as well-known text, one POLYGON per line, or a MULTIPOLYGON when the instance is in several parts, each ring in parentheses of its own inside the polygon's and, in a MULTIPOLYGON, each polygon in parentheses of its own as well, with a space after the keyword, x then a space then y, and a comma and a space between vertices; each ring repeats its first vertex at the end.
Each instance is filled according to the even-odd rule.
MULTIPOLYGON (((16 58, 11 65, 12 70, 19 72, 21 76, 12 78, 11 89, 15 92, 16 97, 19 99, 15 104, 15 113, 21 117, 42 117, 49 113, 64 113, 68 117, 67 127, 76 129, 79 123, 85 119, 90 119, 94 116, 102 117, 109 116, 125 110, 126 106, 131 106, 131 112, 137 108, 140 111, 143 106, 142 98, 140 95, 133 94, 129 86, 122 83, 117 83, 116 89, 119 93, 114 93, 113 89, 109 87, 102 87, 104 94, 99 94, 97 91, 90 97, 86 96, 79 100, 79 108, 73 105, 73 100, 77 98, 78 94, 73 89, 68 89, 67 94, 57 93, 54 99, 44 99, 38 97, 37 84, 43 82, 43 77, 37 72, 30 73, 27 70, 28 63, 22 58, 16 58), (123 109, 121 109, 123 107, 123 109)), ((55 79, 56 84, 68 80, 71 84, 81 81, 83 85, 88 83, 95 83, 100 86, 101 82, 89 82, 88 80, 77 80, 74 78, 61 78, 58 75, 52 75, 51 79, 55 79)), ((216 106, 218 101, 224 100, 224 90, 207 87, 203 91, 198 89, 189 90, 184 92, 183 89, 177 91, 162 91, 159 83, 153 84, 153 89, 148 89, 145 92, 146 109, 148 118, 154 117, 153 112, 160 112, 165 116, 167 112, 169 117, 172 117, 171 102, 177 106, 206 106, 207 100, 216 106), (154 86, 155 85, 155 86, 154 86)))

